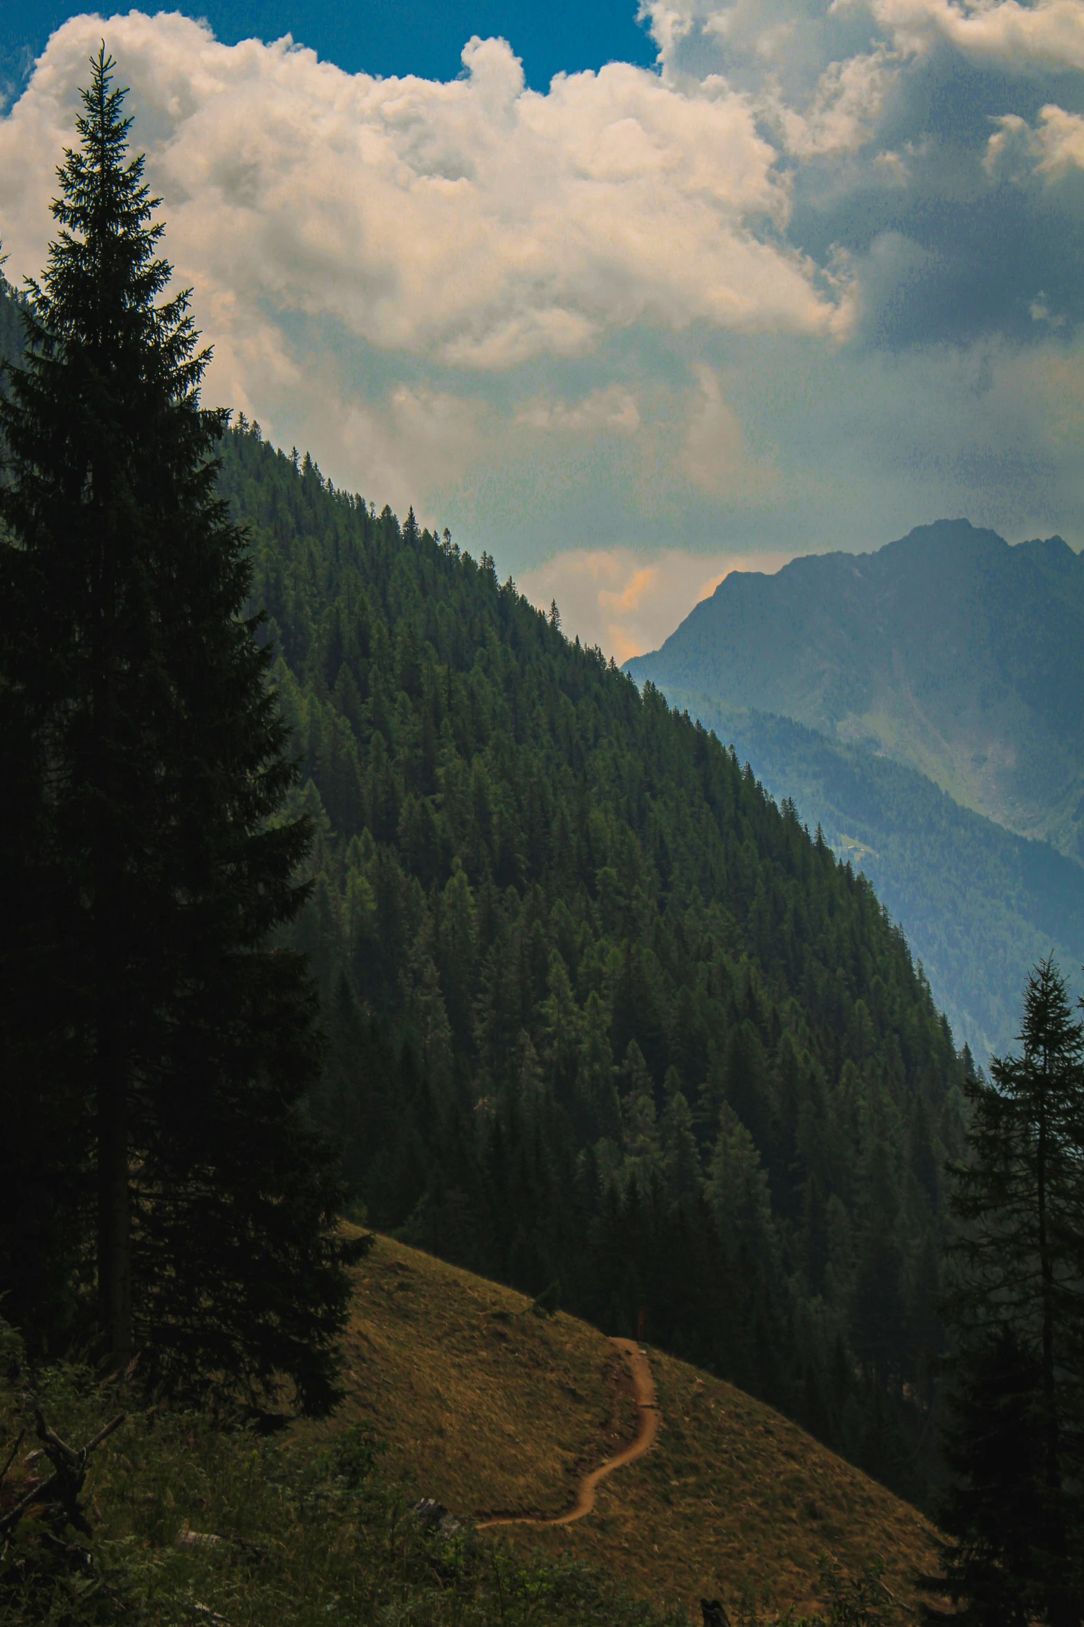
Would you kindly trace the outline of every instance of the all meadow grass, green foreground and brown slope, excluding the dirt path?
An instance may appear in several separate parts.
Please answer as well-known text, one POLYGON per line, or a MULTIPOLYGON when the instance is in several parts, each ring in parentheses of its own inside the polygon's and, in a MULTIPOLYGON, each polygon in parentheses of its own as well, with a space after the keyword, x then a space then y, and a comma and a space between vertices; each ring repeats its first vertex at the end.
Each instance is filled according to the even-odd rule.
MULTIPOLYGON (((13 1350, 0 1453, 29 1438, 0 1516, 41 1474, 26 1463, 34 1404, 73 1445, 122 1404, 86 1370, 29 1375, 13 1350)), ((650 1359, 658 1442, 601 1482, 592 1515, 475 1533, 486 1515, 567 1508, 634 1433, 629 1385, 596 1329, 377 1238, 356 1267, 336 1412, 267 1435, 137 1404, 89 1463, 91 1570, 47 1551, 41 1513, 24 1518, 0 1560, 0 1624, 676 1627, 707 1596, 739 1622, 796 1627, 842 1622, 840 1583, 871 1565, 882 1617, 915 1616, 934 1533, 913 1508, 762 1402, 650 1359), (423 1495, 458 1529, 426 1529, 423 1495)))

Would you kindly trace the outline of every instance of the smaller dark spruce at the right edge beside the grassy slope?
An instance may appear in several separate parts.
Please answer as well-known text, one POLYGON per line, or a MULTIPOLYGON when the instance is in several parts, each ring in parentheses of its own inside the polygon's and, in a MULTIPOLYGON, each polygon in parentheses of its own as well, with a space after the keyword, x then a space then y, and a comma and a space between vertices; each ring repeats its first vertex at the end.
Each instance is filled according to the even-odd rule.
POLYGON ((1051 962, 1027 983, 1021 1054, 967 1079, 939 1583, 977 1627, 1084 1611, 1084 1035, 1051 962))

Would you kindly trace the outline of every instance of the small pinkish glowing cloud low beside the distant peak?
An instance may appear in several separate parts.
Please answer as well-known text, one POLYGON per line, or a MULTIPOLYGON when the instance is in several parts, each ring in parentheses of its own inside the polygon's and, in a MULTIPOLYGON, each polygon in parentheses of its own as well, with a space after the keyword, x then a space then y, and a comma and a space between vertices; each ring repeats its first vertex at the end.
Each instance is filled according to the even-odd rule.
POLYGON ((778 571, 790 553, 686 553, 668 548, 570 548, 520 578, 520 591, 548 608, 556 599, 564 631, 598 644, 621 664, 657 649, 700 599, 731 571, 778 571))

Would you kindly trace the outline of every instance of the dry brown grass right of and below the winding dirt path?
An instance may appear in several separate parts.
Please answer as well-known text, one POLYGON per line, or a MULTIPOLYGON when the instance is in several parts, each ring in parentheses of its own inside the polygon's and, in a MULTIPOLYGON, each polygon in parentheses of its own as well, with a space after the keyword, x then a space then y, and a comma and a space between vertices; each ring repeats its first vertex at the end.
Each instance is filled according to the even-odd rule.
POLYGON ((933 1528, 788 1419, 733 1385, 650 1352, 661 1409, 655 1448, 598 1489, 595 1515, 514 1531, 517 1547, 567 1551, 619 1570, 657 1603, 743 1598, 762 1614, 819 1607, 819 1559, 850 1575, 884 1562, 904 1614, 934 1565, 933 1528))

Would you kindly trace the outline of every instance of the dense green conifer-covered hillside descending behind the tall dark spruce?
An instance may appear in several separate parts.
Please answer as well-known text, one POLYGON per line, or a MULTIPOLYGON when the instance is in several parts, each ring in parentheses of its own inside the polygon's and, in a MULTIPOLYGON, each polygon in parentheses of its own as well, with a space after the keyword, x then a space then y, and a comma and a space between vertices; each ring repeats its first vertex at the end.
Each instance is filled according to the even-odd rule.
POLYGON ((314 1111, 369 1220, 644 1310, 917 1490, 962 1064, 871 885, 486 555, 255 426, 223 491, 309 774, 314 1111))

